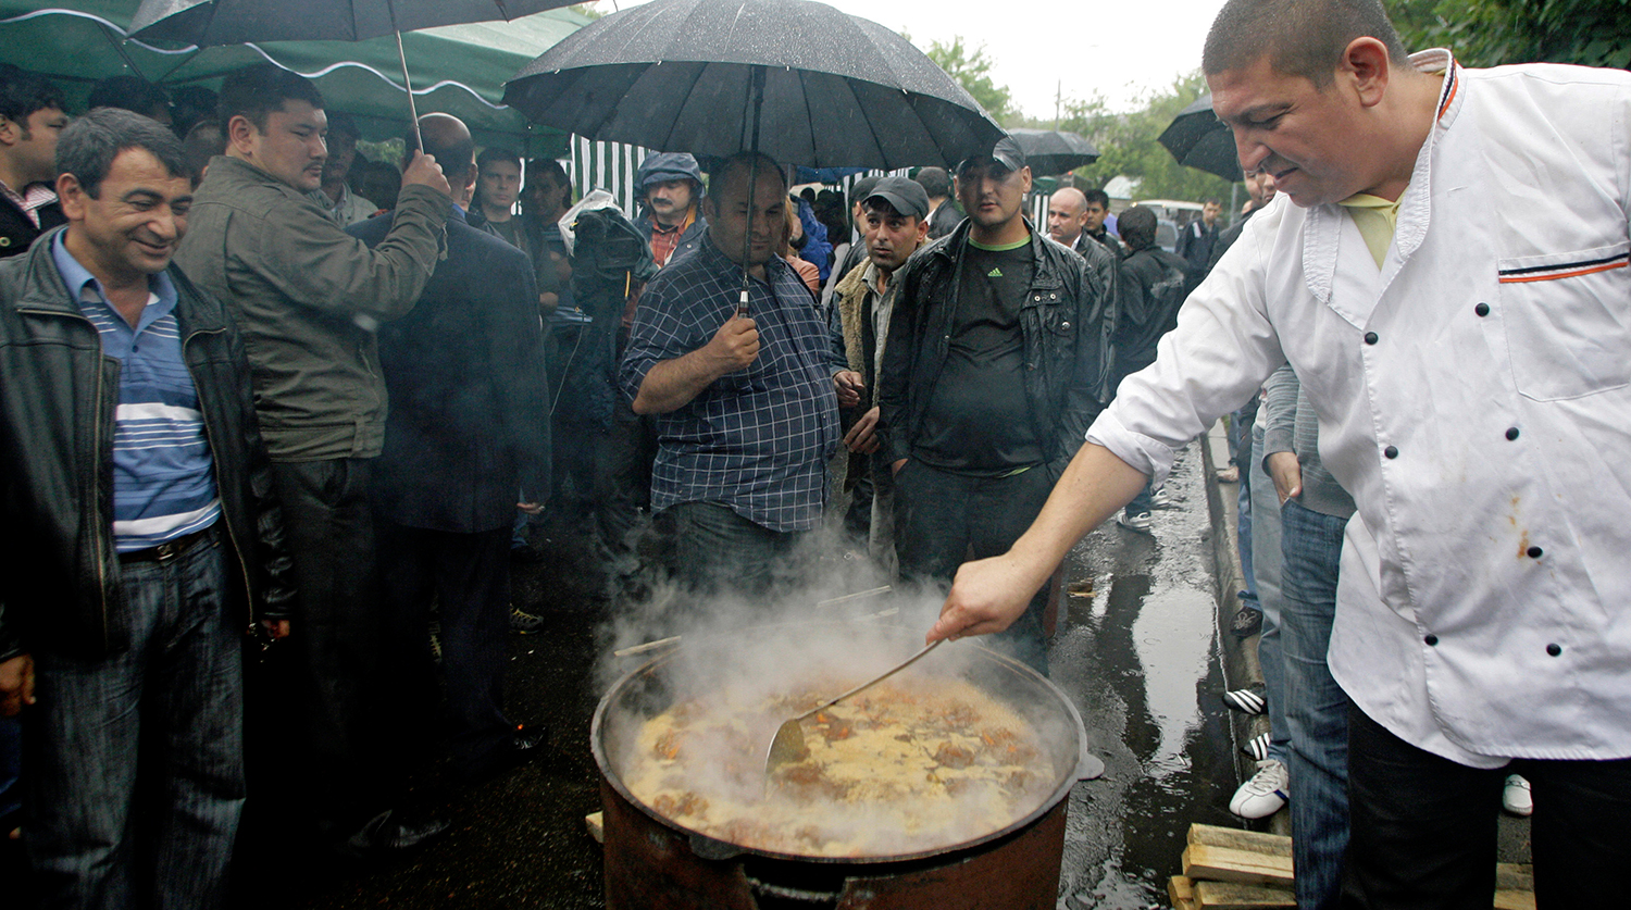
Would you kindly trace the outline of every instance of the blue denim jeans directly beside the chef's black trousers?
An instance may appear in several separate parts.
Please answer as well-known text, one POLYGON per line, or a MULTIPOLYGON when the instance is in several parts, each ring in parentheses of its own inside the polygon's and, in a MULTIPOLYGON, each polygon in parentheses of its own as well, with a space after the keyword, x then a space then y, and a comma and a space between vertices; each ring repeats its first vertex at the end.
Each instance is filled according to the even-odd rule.
POLYGON ((1326 665, 1344 527, 1347 519, 1305 509, 1295 499, 1280 507, 1280 654, 1292 740, 1292 861, 1302 910, 1337 905, 1347 850, 1349 700, 1326 665))

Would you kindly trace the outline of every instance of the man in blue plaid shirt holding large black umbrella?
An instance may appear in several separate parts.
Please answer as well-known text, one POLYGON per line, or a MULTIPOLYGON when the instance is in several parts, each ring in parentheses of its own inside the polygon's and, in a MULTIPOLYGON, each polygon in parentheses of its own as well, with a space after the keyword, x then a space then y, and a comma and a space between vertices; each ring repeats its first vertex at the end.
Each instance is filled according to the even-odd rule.
POLYGON ((703 201, 708 235, 646 285, 623 356, 634 411, 659 414, 651 507, 695 592, 786 581, 825 506, 838 403, 816 298, 775 254, 786 205, 775 161, 727 158, 703 201))

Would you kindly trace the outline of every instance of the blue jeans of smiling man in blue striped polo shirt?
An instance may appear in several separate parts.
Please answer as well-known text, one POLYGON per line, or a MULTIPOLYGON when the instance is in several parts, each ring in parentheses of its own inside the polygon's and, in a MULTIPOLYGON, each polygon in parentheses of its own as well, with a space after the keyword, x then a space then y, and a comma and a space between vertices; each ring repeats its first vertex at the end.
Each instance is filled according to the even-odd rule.
POLYGON ((245 618, 223 571, 214 538, 126 563, 111 621, 127 651, 34 651, 23 768, 41 907, 220 905, 245 788, 245 618))

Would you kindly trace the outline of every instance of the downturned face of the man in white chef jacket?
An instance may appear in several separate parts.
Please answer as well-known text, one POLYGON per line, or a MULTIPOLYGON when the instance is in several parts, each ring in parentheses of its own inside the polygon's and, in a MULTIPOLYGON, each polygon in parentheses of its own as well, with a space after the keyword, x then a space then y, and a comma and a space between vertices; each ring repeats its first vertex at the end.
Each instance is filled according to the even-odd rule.
POLYGON ((1212 109, 1235 132, 1241 168, 1262 170, 1292 202, 1336 202, 1368 188, 1362 106, 1339 80, 1319 90, 1275 72, 1269 57, 1207 77, 1212 109))

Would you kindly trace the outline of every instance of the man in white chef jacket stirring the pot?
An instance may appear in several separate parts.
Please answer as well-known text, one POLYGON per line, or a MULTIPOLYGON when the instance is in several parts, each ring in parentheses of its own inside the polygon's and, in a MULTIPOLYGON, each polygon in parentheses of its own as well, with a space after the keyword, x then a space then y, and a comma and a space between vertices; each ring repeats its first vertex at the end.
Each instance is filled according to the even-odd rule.
POLYGON ((1204 68, 1280 197, 930 638, 1005 628, 1086 530, 1282 362, 1354 494, 1344 907, 1487 907, 1501 783, 1536 897, 1631 848, 1631 73, 1406 55, 1375 0, 1231 0, 1204 68))

